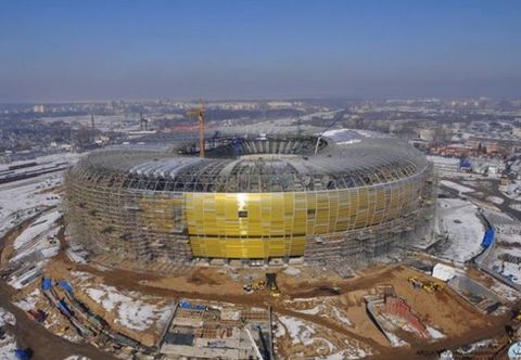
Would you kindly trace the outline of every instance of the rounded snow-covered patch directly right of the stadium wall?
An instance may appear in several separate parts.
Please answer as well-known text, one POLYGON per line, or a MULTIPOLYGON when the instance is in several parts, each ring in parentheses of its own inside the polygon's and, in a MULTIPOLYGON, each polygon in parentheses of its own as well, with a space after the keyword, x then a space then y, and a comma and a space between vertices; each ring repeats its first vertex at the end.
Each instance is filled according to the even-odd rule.
POLYGON ((440 256, 465 262, 480 254, 485 228, 478 217, 478 207, 459 198, 440 198, 437 206, 440 231, 450 240, 440 256))

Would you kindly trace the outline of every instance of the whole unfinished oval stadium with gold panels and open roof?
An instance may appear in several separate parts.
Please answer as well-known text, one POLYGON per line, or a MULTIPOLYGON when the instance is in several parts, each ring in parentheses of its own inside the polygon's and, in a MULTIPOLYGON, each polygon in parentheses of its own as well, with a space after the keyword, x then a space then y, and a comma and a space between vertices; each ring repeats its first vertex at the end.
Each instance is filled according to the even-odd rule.
POLYGON ((430 232, 432 165, 405 142, 230 131, 204 142, 158 134, 80 160, 65 175, 75 241, 145 261, 357 266, 430 232))

